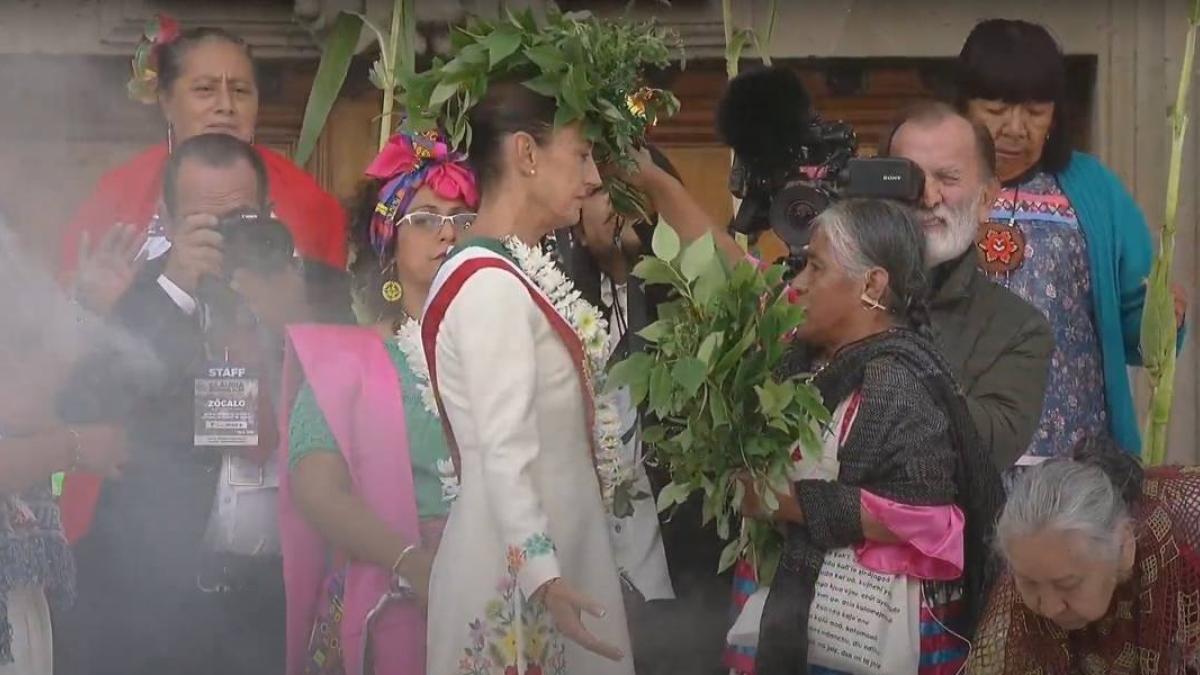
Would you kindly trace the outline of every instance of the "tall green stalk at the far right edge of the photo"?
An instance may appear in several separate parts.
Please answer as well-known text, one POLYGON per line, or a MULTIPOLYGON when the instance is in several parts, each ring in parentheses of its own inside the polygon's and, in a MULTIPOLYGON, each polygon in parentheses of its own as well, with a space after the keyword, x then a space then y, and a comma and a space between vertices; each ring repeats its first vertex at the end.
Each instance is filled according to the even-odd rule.
POLYGON ((1171 108, 1171 159, 1166 177, 1166 213, 1158 243, 1158 255, 1150 268, 1146 305, 1141 321, 1141 350, 1150 378, 1150 411, 1146 416, 1146 464, 1166 461, 1166 440, 1175 398, 1175 347, 1178 338, 1171 267, 1175 261, 1175 232, 1180 210, 1180 180, 1183 169, 1183 139, 1188 130, 1188 94, 1195 62, 1196 30, 1200 28, 1200 0, 1192 0, 1180 86, 1171 108))

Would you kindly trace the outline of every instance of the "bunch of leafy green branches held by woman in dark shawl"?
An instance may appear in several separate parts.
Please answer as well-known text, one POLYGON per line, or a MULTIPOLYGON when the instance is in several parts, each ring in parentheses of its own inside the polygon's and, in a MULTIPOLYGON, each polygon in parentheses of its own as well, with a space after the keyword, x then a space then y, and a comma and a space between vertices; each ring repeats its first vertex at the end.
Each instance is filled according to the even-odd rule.
MULTIPOLYGON (((820 448, 821 426, 829 420, 811 383, 775 375, 804 310, 788 300, 782 265, 758 269, 742 261, 730 269, 712 235, 683 247, 660 222, 652 249, 654 256, 634 274, 671 286, 674 298, 638 333, 647 351, 616 364, 608 386, 630 387, 656 418, 643 442, 650 461, 671 473, 659 510, 702 490, 704 524, 715 520, 728 540, 745 494, 738 478, 749 477, 774 510, 774 490, 787 490, 797 442, 820 448)), ((781 550, 773 525, 746 520, 722 551, 720 569, 745 556, 769 584, 781 550)))

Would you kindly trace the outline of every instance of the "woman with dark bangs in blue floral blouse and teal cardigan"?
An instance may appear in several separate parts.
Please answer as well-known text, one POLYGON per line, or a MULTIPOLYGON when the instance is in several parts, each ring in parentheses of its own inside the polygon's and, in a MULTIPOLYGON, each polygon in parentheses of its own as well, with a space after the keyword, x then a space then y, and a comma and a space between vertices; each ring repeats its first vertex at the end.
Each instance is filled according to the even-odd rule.
MULTIPOLYGON (((978 24, 958 61, 958 103, 996 145, 1003 190, 980 229, 980 267, 1042 310, 1055 335, 1042 420, 1019 466, 1106 432, 1141 448, 1128 365, 1141 365, 1151 235, 1096 157, 1072 149, 1066 66, 1045 28, 978 24)), ((1176 318, 1186 303, 1176 292, 1176 318)))

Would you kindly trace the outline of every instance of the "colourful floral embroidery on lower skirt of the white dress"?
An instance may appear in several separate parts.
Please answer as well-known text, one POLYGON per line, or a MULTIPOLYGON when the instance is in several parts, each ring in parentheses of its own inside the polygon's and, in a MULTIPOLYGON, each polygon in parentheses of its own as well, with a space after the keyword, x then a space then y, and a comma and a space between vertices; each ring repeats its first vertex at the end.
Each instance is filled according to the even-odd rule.
POLYGON ((523 561, 526 550, 545 555, 554 544, 546 534, 534 534, 523 549, 509 549, 509 574, 497 584, 498 597, 484 608, 484 617, 472 621, 470 644, 458 659, 458 675, 565 675, 566 645, 551 625, 540 602, 529 602, 517 586, 512 551, 523 561), (520 647, 520 649, 518 649, 520 647), (522 655, 521 663, 517 655, 522 655))

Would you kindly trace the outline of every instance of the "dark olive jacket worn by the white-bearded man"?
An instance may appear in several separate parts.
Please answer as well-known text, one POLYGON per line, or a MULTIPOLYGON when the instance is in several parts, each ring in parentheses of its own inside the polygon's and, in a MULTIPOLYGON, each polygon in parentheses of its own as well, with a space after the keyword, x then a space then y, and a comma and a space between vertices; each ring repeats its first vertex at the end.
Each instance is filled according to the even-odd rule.
POLYGON ((1042 418, 1054 351, 1049 322, 979 270, 974 246, 934 270, 930 318, 980 441, 998 470, 1013 466, 1042 418))

